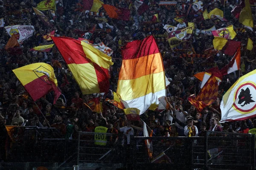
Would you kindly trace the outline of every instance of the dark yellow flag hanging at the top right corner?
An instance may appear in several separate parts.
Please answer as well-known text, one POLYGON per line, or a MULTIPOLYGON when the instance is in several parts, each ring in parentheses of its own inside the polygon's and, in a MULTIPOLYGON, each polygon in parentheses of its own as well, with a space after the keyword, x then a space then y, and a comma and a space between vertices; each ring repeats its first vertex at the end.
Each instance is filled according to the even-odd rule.
POLYGON ((245 0, 245 7, 240 12, 239 23, 242 23, 244 26, 253 28, 253 15, 249 0, 245 0))

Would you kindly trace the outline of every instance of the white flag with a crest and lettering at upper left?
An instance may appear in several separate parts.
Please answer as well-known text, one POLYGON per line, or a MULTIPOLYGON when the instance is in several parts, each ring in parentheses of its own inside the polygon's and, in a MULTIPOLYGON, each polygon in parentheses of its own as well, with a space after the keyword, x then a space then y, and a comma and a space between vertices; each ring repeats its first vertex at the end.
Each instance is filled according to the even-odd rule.
POLYGON ((12 34, 14 34, 19 43, 31 37, 33 35, 33 32, 35 31, 34 26, 16 25, 6 26, 4 28, 6 29, 6 32, 9 34, 10 37, 12 36, 12 34))

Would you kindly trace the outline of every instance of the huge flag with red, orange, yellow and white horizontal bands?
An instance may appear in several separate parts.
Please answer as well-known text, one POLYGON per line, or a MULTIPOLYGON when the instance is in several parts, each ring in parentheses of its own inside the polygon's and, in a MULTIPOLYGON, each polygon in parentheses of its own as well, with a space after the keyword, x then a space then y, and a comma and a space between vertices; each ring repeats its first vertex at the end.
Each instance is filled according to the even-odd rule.
POLYGON ((142 114, 166 96, 163 61, 154 37, 128 42, 122 48, 122 59, 116 94, 142 114))

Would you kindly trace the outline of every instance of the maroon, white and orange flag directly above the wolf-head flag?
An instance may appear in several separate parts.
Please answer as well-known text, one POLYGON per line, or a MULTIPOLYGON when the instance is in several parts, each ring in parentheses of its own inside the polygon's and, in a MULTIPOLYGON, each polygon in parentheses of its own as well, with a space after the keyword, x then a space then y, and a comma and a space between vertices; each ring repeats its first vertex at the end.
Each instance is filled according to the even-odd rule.
POLYGON ((223 76, 225 76, 227 74, 230 74, 234 71, 239 70, 240 69, 240 60, 241 60, 241 48, 239 46, 239 48, 236 51, 236 54, 230 60, 230 63, 221 69, 221 74, 223 76))

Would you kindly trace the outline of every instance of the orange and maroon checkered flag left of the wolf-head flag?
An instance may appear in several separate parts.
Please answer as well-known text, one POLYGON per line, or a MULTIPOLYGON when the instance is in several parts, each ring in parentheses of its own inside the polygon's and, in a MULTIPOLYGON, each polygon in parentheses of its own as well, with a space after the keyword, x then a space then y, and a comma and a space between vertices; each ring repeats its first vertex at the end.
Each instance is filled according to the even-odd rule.
POLYGON ((215 75, 211 75, 199 94, 189 96, 189 102, 195 106, 198 112, 201 112, 205 107, 211 105, 218 96, 218 80, 215 75))

